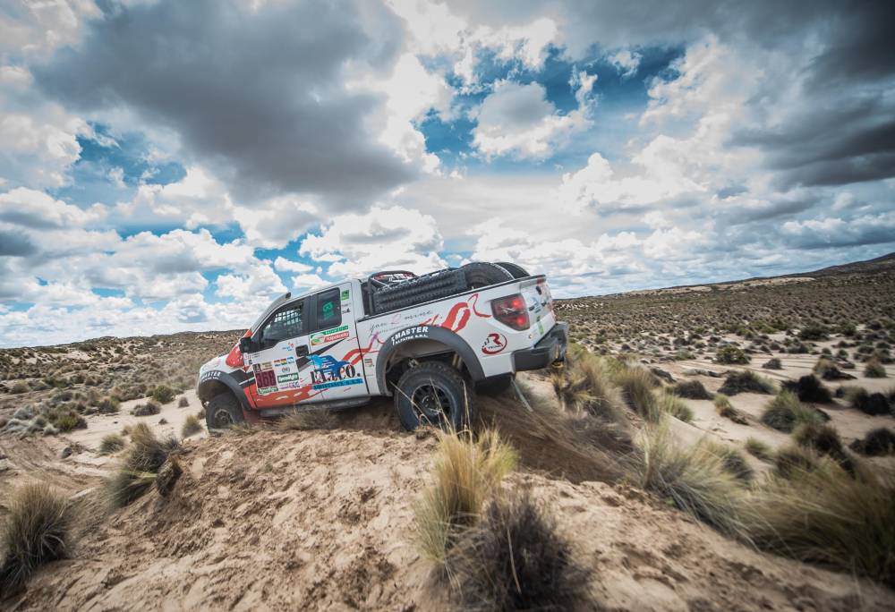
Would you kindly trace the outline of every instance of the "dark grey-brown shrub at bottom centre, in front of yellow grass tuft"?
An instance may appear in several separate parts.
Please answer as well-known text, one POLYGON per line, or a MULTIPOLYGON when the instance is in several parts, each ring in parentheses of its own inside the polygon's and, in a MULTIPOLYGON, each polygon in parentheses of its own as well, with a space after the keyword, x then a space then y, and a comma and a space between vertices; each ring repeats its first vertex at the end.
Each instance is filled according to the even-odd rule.
POLYGON ((588 598, 556 520, 528 494, 490 503, 448 556, 451 585, 468 610, 564 610, 588 598))

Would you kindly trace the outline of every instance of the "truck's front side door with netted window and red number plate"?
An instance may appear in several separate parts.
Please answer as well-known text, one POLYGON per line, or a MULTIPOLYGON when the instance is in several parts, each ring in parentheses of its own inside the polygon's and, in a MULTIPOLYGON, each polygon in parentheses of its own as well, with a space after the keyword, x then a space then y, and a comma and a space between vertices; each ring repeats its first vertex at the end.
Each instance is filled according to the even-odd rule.
POLYGON ((305 298, 284 304, 252 336, 259 349, 246 355, 255 376, 255 385, 249 392, 259 408, 324 399, 311 380, 308 310, 312 302, 305 298))

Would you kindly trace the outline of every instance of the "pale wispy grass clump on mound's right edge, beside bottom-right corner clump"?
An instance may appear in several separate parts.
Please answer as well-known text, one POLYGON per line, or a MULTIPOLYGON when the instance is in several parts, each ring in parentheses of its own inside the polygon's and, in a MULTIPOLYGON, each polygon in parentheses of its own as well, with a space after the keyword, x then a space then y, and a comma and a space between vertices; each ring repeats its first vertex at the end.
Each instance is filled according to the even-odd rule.
POLYGON ((742 489, 720 456, 704 444, 678 446, 664 423, 645 429, 638 447, 634 472, 641 487, 719 531, 743 534, 738 518, 742 489))

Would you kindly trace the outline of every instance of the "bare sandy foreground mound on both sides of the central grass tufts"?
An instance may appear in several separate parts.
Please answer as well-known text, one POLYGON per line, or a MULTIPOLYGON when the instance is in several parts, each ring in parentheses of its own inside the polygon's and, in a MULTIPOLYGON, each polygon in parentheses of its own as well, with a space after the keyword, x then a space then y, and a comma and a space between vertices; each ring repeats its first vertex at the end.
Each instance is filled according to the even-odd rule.
MULTIPOLYGON (((111 515, 11 609, 444 609, 411 539, 431 438, 261 431, 188 446, 164 500, 111 515)), ((628 610, 883 610, 895 594, 726 540, 644 493, 519 472, 590 587, 628 610), (582 537, 586 534, 586 537, 582 537)))

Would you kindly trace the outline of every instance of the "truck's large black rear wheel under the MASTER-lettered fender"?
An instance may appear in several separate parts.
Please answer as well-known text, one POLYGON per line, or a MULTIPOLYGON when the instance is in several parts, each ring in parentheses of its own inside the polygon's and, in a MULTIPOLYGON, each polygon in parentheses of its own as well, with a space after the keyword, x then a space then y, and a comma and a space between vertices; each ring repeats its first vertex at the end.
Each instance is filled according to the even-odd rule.
POLYGON ((394 390, 397 417, 408 431, 425 424, 462 431, 472 421, 475 408, 470 387, 446 363, 423 361, 398 380, 394 390))

